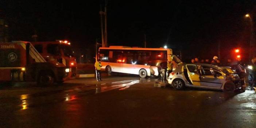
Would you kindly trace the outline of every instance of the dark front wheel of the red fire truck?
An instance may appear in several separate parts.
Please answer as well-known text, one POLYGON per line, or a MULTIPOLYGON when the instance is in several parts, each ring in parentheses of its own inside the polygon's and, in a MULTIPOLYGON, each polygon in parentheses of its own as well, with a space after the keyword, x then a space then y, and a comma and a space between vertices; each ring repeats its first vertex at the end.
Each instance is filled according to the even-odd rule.
POLYGON ((38 85, 53 85, 54 77, 49 73, 40 73, 38 77, 38 85))

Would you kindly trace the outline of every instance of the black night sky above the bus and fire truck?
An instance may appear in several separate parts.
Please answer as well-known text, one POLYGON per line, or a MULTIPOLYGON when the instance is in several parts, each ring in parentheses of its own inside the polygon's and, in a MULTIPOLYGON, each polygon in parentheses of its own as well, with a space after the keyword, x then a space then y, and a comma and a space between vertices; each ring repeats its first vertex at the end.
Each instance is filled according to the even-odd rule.
MULTIPOLYGON (((100 42, 100 4, 105 0, 47 1, 1 0, 0 13, 9 25, 9 41, 70 40, 77 51, 94 52, 100 42), (79 49, 79 50, 78 50, 79 49)), ((248 48, 253 0, 108 0, 108 43, 122 46, 163 47, 182 50, 184 59, 212 59, 230 55, 234 47, 248 48)), ((246 50, 244 50, 246 51, 246 50)), ((92 55, 89 55, 92 56, 92 55)))

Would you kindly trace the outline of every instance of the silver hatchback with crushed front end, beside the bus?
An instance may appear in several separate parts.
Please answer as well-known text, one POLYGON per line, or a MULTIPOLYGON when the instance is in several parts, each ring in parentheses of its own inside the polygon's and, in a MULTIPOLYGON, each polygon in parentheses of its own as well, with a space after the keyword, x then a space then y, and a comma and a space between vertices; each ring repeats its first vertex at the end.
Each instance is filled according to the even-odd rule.
POLYGON ((243 90, 244 81, 231 69, 198 63, 181 64, 167 78, 174 89, 185 87, 217 89, 224 92, 243 90))

